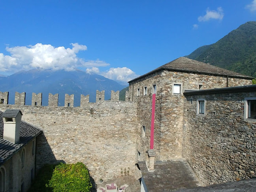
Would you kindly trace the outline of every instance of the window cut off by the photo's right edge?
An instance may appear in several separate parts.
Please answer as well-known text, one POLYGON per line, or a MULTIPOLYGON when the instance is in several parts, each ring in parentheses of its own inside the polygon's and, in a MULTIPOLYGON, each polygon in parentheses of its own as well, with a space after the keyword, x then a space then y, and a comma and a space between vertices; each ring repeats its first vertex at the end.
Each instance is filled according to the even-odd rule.
POLYGON ((256 122, 256 97, 245 98, 245 120, 256 122))

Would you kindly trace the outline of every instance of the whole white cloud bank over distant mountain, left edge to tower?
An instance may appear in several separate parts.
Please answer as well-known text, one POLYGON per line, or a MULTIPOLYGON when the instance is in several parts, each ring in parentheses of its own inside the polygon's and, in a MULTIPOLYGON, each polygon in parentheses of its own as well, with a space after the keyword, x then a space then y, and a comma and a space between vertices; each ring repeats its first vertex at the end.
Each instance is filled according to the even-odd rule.
POLYGON ((88 74, 96 73, 109 79, 118 81, 123 85, 136 78, 135 72, 129 68, 110 68, 101 72, 99 67, 110 64, 102 60, 84 60, 76 54, 79 51, 86 51, 87 46, 71 43, 72 49, 65 47, 53 47, 52 45, 36 45, 6 47, 10 55, 0 53, 0 72, 15 73, 20 70, 30 70, 33 68, 73 71, 77 67, 87 68, 88 74))

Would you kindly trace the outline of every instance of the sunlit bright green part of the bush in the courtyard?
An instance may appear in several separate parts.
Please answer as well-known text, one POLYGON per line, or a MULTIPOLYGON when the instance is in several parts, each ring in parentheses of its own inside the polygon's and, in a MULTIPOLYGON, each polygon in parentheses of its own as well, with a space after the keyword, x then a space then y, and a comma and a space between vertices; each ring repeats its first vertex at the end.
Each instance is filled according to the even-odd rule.
POLYGON ((90 192, 92 183, 83 163, 60 163, 55 167, 48 186, 53 188, 53 192, 90 192))

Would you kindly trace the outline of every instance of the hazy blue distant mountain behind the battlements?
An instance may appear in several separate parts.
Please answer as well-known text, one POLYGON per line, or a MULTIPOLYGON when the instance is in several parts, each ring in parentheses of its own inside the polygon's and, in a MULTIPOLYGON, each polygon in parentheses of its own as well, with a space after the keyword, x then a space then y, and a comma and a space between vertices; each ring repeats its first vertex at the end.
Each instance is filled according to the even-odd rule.
POLYGON ((90 102, 96 101, 96 90, 105 90, 105 100, 111 90, 122 90, 124 85, 101 75, 75 70, 52 71, 33 69, 20 71, 8 77, 0 77, 0 91, 9 91, 9 104, 14 104, 15 92, 26 92, 26 105, 31 105, 32 92, 43 94, 42 105, 48 105, 48 94, 59 94, 59 106, 64 106, 65 93, 74 94, 74 106, 80 105, 80 95, 90 94, 90 102))

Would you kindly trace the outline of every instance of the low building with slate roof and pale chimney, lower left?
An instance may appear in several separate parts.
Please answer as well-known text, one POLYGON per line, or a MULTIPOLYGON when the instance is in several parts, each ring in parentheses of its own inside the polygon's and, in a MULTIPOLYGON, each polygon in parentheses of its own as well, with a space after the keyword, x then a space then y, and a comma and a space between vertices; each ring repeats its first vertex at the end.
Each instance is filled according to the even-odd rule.
POLYGON ((36 137, 41 130, 21 121, 19 109, 0 112, 0 191, 25 192, 35 175, 36 137))

